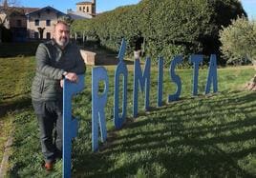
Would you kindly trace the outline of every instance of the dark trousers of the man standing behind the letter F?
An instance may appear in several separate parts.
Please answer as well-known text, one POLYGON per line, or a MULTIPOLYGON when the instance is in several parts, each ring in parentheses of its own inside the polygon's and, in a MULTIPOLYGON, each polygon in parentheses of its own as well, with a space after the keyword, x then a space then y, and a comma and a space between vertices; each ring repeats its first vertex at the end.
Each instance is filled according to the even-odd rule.
POLYGON ((62 155, 62 101, 32 101, 45 162, 62 155))

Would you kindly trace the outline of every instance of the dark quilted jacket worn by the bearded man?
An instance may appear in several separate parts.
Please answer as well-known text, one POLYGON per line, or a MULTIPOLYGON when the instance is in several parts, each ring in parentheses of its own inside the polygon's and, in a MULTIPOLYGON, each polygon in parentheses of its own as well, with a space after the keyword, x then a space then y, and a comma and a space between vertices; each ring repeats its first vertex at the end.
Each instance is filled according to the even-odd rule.
POLYGON ((63 72, 83 74, 85 64, 79 49, 69 43, 65 49, 60 49, 54 41, 41 43, 35 54, 36 73, 32 81, 32 100, 54 101, 62 96, 60 80, 63 72))

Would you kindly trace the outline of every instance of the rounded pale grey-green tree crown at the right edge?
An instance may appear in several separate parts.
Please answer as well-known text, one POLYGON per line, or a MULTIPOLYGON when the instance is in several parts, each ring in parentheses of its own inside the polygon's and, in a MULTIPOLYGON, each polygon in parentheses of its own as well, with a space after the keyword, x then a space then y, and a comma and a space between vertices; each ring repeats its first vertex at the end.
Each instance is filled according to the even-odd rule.
POLYGON ((224 59, 228 63, 243 64, 256 60, 256 22, 245 17, 233 20, 220 31, 224 59))

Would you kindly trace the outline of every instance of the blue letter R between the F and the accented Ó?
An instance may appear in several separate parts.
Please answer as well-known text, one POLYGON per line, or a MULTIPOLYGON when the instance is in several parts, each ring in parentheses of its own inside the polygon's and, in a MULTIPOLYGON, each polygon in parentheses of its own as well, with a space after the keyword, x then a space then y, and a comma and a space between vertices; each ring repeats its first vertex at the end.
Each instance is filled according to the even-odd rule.
POLYGON ((101 141, 107 139, 106 119, 104 107, 107 104, 107 96, 109 90, 109 78, 107 70, 103 67, 98 67, 92 71, 92 146, 96 151, 98 148, 98 125, 100 127, 101 141), (102 95, 98 94, 98 83, 103 81, 105 88, 102 95))

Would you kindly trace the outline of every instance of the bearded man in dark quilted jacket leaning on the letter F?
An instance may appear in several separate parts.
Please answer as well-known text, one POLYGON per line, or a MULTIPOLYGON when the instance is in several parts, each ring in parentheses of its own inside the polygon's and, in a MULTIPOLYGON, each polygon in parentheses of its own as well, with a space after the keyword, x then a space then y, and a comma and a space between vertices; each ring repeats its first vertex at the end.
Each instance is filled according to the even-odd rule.
POLYGON ((85 64, 79 49, 70 43, 69 26, 62 21, 54 27, 53 40, 38 46, 35 58, 32 106, 40 129, 45 168, 51 170, 55 159, 62 155, 63 79, 77 82, 77 74, 85 72, 85 64))

